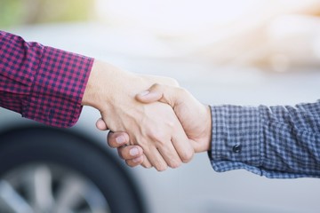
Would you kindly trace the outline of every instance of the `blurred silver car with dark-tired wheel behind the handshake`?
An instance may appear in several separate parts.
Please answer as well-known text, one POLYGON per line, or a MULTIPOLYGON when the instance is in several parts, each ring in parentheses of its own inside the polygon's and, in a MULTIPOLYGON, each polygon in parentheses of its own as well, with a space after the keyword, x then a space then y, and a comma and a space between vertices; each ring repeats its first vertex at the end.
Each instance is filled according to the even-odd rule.
MULTIPOLYGON (((9 31, 132 72, 174 77, 207 104, 292 105, 319 99, 320 72, 311 69, 279 74, 257 67, 155 57, 148 53, 167 50, 154 37, 95 24, 9 31)), ((95 109, 84 107, 75 127, 60 130, 1 108, 0 212, 316 213, 320 209, 318 179, 268 179, 244 170, 218 174, 207 154, 196 154, 177 170, 126 167, 108 148, 106 132, 95 129, 99 117, 95 109)))

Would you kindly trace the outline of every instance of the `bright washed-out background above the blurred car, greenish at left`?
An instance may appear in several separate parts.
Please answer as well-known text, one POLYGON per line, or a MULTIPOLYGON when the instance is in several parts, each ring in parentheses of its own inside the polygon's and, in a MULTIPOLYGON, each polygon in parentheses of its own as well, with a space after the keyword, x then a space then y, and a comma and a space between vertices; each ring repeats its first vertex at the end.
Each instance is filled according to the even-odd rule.
POLYGON ((119 36, 130 33, 131 41, 113 46, 126 53, 129 49, 149 57, 204 59, 219 66, 276 72, 319 65, 316 0, 1 0, 0 4, 1 28, 100 23, 119 36))

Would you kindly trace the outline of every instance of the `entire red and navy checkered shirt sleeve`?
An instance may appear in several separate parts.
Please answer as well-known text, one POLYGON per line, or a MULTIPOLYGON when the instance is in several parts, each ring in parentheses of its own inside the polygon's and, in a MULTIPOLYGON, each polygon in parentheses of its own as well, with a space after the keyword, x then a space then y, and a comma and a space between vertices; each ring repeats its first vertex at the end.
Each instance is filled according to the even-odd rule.
POLYGON ((0 31, 0 106, 55 127, 74 125, 93 59, 0 31))

